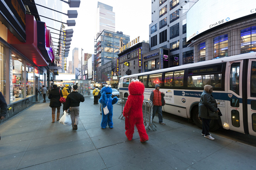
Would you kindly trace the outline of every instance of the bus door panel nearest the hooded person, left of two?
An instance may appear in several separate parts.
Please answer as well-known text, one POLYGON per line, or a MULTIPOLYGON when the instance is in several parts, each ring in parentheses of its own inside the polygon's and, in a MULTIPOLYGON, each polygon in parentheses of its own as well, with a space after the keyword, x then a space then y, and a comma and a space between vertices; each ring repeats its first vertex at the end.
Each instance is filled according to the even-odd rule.
MULTIPOLYGON (((231 129, 240 133, 245 133, 243 128, 243 94, 242 94, 242 71, 243 60, 229 62, 226 72, 227 82, 227 107, 226 121, 223 123, 224 129, 231 129)), ((245 75, 246 76, 246 75, 245 75)), ((225 119, 222 119, 225 121, 225 119)))

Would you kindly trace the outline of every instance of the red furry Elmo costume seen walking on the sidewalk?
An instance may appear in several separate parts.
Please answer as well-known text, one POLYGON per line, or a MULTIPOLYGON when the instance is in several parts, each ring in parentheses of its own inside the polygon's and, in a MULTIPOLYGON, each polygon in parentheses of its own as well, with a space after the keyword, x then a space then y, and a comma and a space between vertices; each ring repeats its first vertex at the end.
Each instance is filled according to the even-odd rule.
POLYGON ((143 113, 142 113, 142 104, 143 104, 143 93, 144 93, 144 84, 138 81, 132 80, 128 90, 130 95, 124 106, 123 115, 126 117, 126 136, 128 140, 132 140, 134 134, 134 125, 138 129, 140 135, 140 142, 145 142, 148 140, 148 134, 146 133, 145 126, 143 124, 143 113), (127 121, 128 120, 128 121, 127 121))

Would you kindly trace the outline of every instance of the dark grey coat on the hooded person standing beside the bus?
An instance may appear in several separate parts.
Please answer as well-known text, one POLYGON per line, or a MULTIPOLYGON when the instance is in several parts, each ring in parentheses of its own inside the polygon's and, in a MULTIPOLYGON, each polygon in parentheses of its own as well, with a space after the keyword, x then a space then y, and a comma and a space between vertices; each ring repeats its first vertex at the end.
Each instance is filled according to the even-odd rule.
POLYGON ((204 119, 219 119, 218 117, 209 117, 209 112, 216 112, 218 110, 216 100, 207 91, 203 91, 199 106, 199 117, 204 119))

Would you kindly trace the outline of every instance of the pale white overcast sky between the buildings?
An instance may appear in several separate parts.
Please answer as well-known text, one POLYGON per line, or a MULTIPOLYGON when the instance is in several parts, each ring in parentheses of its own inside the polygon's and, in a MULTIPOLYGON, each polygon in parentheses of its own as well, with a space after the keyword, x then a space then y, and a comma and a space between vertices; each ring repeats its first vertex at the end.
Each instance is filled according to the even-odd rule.
MULTIPOLYGON (((135 39, 140 36, 140 42, 149 40, 149 24, 151 23, 151 1, 150 0, 99 0, 113 7, 115 12, 115 31, 122 31, 123 34, 135 39)), ((78 17, 75 19, 76 26, 66 27, 73 29, 73 37, 67 61, 72 61, 73 48, 79 48, 78 54, 81 58, 83 53, 94 54, 94 39, 96 39, 96 14, 97 0, 81 0, 80 8, 69 8, 68 4, 62 4, 62 12, 77 10, 78 17)), ((68 18, 63 17, 63 22, 68 18)))

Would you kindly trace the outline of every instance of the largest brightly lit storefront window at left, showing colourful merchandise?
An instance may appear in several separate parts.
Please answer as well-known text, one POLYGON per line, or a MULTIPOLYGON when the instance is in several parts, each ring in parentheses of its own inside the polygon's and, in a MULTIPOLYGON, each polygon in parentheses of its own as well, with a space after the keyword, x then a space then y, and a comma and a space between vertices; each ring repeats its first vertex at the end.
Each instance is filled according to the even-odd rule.
POLYGON ((24 77, 22 58, 12 52, 10 59, 10 103, 25 98, 24 77))

